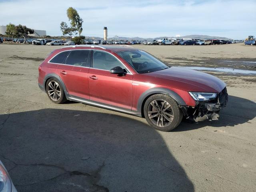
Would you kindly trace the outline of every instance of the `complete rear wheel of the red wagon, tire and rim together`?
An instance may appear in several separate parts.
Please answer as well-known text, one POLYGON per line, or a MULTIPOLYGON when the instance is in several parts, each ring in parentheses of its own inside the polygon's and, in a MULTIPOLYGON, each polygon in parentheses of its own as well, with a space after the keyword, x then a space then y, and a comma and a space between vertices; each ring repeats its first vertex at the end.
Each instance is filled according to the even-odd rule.
POLYGON ((66 96, 60 82, 54 78, 50 78, 46 82, 46 93, 48 98, 56 104, 66 101, 66 96))

